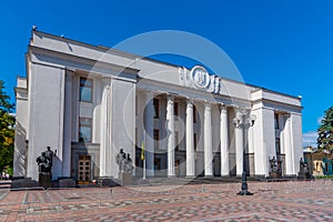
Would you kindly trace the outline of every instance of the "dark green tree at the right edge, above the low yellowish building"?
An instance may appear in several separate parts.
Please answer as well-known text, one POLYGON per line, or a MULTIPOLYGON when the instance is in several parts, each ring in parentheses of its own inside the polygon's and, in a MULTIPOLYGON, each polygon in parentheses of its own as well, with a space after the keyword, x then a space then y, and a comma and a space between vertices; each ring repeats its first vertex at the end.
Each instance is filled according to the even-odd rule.
POLYGON ((317 129, 317 148, 323 151, 333 152, 333 107, 325 111, 325 115, 317 129))

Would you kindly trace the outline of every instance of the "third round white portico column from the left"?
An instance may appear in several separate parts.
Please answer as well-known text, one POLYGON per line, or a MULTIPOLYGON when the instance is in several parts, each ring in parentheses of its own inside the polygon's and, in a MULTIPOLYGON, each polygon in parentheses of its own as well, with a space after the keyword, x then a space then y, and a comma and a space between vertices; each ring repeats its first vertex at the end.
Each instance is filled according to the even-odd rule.
POLYGON ((195 176, 193 140, 193 103, 186 100, 186 176, 195 176))

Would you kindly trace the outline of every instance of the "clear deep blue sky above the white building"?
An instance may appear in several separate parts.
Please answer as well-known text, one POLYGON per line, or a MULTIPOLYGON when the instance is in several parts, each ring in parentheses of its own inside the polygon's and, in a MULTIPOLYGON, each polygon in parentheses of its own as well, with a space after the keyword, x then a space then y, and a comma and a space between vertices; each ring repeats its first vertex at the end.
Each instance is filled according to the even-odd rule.
POLYGON ((186 31, 222 48, 245 82, 302 95, 303 142, 311 144, 319 119, 333 105, 332 12, 329 0, 1 1, 0 79, 13 98, 17 75, 26 75, 33 24, 107 47, 148 31, 186 31))

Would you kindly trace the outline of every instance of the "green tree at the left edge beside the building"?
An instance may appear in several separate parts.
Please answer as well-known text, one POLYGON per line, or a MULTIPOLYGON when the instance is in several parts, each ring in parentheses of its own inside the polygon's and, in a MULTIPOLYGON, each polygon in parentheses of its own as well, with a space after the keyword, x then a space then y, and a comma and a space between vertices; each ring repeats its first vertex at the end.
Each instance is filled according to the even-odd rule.
POLYGON ((12 169, 14 148, 14 118, 10 114, 14 104, 4 92, 4 82, 0 80, 0 172, 12 169))

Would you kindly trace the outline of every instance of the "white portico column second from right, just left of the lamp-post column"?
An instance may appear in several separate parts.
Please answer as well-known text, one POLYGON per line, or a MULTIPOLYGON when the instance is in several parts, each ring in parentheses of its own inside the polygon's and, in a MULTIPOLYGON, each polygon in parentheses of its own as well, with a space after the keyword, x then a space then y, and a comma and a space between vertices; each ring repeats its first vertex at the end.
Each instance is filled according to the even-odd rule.
POLYGON ((221 107, 220 115, 220 139, 221 139, 221 175, 229 175, 229 141, 228 141, 228 110, 221 107))

